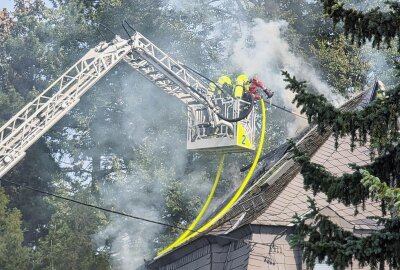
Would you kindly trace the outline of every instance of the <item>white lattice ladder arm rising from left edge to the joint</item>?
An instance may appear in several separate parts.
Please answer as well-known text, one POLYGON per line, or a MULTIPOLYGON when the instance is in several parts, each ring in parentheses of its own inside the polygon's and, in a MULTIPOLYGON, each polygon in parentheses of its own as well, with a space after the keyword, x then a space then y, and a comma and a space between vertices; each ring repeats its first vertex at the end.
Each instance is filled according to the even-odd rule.
POLYGON ((100 43, 0 128, 0 177, 130 52, 128 43, 118 37, 111 43, 100 43))

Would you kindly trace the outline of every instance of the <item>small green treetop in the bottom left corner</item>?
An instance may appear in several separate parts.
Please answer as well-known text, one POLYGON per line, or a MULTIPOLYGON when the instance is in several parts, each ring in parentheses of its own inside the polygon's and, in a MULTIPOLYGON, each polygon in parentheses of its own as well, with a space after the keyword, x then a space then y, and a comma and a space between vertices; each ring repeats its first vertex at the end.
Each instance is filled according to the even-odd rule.
POLYGON ((30 251, 22 245, 21 212, 7 205, 8 197, 0 188, 0 268, 28 269, 30 251))

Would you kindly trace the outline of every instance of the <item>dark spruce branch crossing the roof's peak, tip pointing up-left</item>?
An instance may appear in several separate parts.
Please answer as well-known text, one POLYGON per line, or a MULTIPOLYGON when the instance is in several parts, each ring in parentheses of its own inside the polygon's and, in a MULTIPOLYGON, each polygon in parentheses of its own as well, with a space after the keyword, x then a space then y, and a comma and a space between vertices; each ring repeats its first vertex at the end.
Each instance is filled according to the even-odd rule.
POLYGON ((318 130, 324 132, 332 128, 337 140, 340 136, 349 134, 351 147, 355 142, 365 144, 367 138, 373 149, 380 150, 384 145, 395 143, 399 138, 398 117, 400 112, 400 86, 386 92, 384 100, 375 100, 363 110, 341 111, 330 104, 323 95, 306 91, 305 82, 298 82, 287 72, 283 72, 285 81, 296 96, 293 100, 296 106, 301 106, 301 112, 306 113, 309 122, 318 125, 318 130))

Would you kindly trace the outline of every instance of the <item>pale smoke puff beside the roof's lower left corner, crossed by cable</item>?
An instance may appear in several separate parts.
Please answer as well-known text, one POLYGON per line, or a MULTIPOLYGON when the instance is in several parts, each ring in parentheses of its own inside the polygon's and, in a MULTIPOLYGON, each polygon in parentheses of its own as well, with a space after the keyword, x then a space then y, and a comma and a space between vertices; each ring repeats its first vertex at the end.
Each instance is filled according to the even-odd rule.
MULTIPOLYGON (((160 170, 150 175, 139 168, 125 181, 107 187, 102 199, 107 203, 113 202, 115 209, 123 209, 125 213, 162 222, 160 209, 164 186, 158 181, 163 174, 169 175, 171 172, 160 170)), ((95 236, 94 241, 98 247, 111 241, 112 263, 115 267, 122 270, 137 269, 144 264, 144 258, 153 254, 153 239, 161 229, 156 224, 111 216, 110 224, 95 236)))

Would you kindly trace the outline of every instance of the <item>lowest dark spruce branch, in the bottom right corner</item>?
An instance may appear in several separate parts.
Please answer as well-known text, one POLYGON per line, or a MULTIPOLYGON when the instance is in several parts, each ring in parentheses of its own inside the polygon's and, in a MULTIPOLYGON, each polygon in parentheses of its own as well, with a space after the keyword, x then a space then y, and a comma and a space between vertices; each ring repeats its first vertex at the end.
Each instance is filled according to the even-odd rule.
POLYGON ((400 218, 379 219, 381 230, 365 237, 355 236, 351 231, 340 228, 319 213, 315 203, 304 216, 294 217, 295 232, 290 244, 303 250, 307 269, 313 269, 315 262, 323 261, 344 270, 356 259, 360 266, 371 269, 385 269, 400 266, 400 218))

